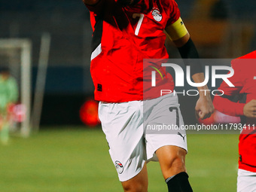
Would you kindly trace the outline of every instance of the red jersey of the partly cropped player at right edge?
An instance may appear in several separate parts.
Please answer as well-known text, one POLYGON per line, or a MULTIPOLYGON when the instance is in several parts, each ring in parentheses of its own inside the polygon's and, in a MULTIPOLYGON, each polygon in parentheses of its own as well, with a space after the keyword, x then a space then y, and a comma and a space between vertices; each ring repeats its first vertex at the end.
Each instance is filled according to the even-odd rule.
MULTIPOLYGON (((243 116, 245 103, 256 99, 256 50, 232 61, 233 77, 229 78, 235 87, 229 87, 225 82, 219 90, 225 96, 215 96, 214 105, 218 111, 232 116, 241 116, 242 123, 247 126, 239 136, 239 169, 256 172, 256 118, 243 116), (240 96, 237 102, 230 101, 232 96, 240 96)), ((239 98, 239 97, 237 97, 239 98)))

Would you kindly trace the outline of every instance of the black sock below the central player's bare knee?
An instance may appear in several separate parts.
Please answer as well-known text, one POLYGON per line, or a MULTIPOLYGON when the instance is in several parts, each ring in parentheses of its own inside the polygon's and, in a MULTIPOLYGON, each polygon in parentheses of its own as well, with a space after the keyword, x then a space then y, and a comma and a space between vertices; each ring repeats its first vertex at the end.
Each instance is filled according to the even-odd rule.
POLYGON ((192 188, 188 181, 187 172, 180 172, 177 175, 166 179, 169 192, 192 192, 192 188))

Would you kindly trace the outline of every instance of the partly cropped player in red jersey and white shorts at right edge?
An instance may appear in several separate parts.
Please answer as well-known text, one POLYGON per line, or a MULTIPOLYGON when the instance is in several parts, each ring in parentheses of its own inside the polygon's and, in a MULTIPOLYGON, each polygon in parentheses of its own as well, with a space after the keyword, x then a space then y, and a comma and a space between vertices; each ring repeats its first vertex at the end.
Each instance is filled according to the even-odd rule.
POLYGON ((233 59, 234 75, 229 78, 235 87, 225 82, 219 90, 223 96, 215 96, 218 111, 231 116, 240 116, 242 130, 239 136, 239 170, 237 191, 256 191, 256 50, 233 59))

